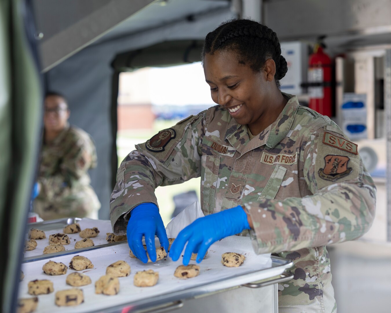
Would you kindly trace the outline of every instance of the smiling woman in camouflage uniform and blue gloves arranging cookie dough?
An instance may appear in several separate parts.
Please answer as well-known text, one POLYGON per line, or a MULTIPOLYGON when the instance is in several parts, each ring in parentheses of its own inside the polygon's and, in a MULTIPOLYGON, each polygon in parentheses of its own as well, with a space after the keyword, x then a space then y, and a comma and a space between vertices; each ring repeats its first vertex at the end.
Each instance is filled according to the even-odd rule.
MULTIPOLYGON (((170 248, 200 263, 212 243, 250 236, 255 253, 292 259, 280 313, 336 312, 326 245, 371 227, 376 187, 357 145, 330 118, 279 89, 287 72, 275 32, 251 20, 208 33, 203 67, 216 106, 160 131, 120 165, 110 200, 114 233, 147 262, 168 246, 154 190, 201 176, 201 208, 170 248), (187 244, 185 253, 184 246, 187 244)), ((178 77, 184 79, 184 77, 178 77)), ((180 258, 183 255, 183 259, 180 258)))

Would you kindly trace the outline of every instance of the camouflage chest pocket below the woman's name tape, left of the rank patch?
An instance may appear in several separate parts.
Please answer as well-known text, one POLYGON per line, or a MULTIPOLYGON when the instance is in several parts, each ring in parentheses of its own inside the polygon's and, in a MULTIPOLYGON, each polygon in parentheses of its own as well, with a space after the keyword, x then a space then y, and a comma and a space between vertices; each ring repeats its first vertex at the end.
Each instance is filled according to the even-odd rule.
MULTIPOLYGON (((216 182, 219 177, 220 156, 201 156, 201 204, 206 214, 212 214, 215 207, 216 182)), ((206 215, 205 214, 205 215, 206 215)))

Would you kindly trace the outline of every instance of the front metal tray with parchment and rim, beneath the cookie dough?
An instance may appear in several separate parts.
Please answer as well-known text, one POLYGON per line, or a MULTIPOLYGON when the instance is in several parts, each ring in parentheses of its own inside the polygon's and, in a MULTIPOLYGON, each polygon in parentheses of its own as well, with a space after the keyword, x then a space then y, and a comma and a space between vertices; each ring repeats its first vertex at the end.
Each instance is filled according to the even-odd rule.
MULTIPOLYGON (((104 275, 106 266, 108 264, 117 261, 118 259, 124 259, 129 262, 132 268, 130 275, 131 277, 120 278, 121 295, 118 294, 117 296, 113 297, 95 295, 93 285, 81 287, 84 290, 84 297, 86 301, 84 304, 76 308, 78 312, 108 313, 117 311, 121 312, 124 310, 126 312, 142 311, 157 313, 163 311, 172 311, 175 308, 183 306, 183 300, 186 299, 198 299, 199 297, 218 293, 223 290, 239 288, 242 285, 250 288, 263 287, 267 286, 268 284, 276 284, 278 282, 290 280, 292 276, 290 274, 283 273, 287 268, 292 266, 292 261, 272 256, 271 259, 268 259, 269 262, 262 263, 265 264, 262 266, 256 266, 256 264, 261 263, 258 263, 258 259, 253 258, 253 261, 248 263, 251 265, 249 265, 247 268, 240 268, 240 272, 237 272, 237 269, 234 268, 222 267, 221 269, 221 266, 216 268, 212 265, 208 265, 211 263, 208 263, 206 262, 207 260, 204 260, 203 263, 200 264, 202 272, 200 272, 199 277, 202 277, 201 280, 191 279, 188 281, 178 281, 175 279, 175 277, 173 277, 172 273, 174 272, 176 266, 179 265, 179 263, 173 263, 171 260, 169 260, 169 258, 167 258, 167 261, 160 261, 160 264, 143 265, 141 263, 137 263, 140 261, 136 259, 129 259, 129 248, 127 247, 126 242, 115 243, 109 245, 108 247, 99 246, 91 248, 94 249, 91 249, 91 251, 85 251, 83 255, 91 259, 91 261, 94 263, 95 269, 91 269, 87 273, 93 282, 96 281, 100 275, 104 275), (156 268, 156 270, 159 271, 161 274, 159 279, 160 287, 165 286, 165 288, 155 288, 159 286, 149 287, 151 289, 143 290, 143 292, 140 293, 140 290, 137 290, 138 287, 133 286, 134 273, 138 270, 147 268, 156 268), (210 269, 213 271, 209 272, 210 269), (216 275, 217 272, 215 272, 215 270, 221 273, 216 275), (175 281, 173 282, 173 280, 175 281), (254 283, 255 281, 260 280, 263 281, 254 283), (161 284, 163 282, 165 282, 165 285, 161 284)), ((213 264, 215 264, 217 261, 215 258, 217 255, 221 255, 221 250, 216 250, 215 248, 212 248, 212 250, 214 250, 216 254, 213 254, 213 251, 211 250, 209 253, 210 257, 212 257, 211 261, 214 260, 213 264)), ((226 247, 224 247, 224 250, 225 251, 223 252, 226 252, 226 247)), ((232 250, 235 252, 235 248, 232 248, 232 250)), ((67 264, 71 259, 72 254, 79 254, 79 251, 71 250, 69 253, 67 252, 64 254, 64 252, 62 252, 62 255, 59 254, 51 254, 50 259, 52 261, 63 262, 64 264, 67 264)), ((251 258, 249 259, 249 262, 250 260, 251 258)), ((25 279, 20 282, 21 288, 19 297, 28 296, 26 292, 28 281, 34 279, 48 279, 47 275, 41 271, 45 260, 39 259, 35 260, 34 262, 33 260, 28 260, 25 263, 26 264, 23 264, 25 279)), ((65 277, 63 275, 61 275, 61 277, 52 276, 49 279, 54 282, 55 291, 70 288, 70 286, 65 284, 65 277)), ((53 310, 56 310, 57 312, 68 313, 71 312, 72 309, 75 309, 58 308, 54 306, 54 301, 52 300, 53 297, 53 294, 40 296, 37 312, 52 312, 53 310)))

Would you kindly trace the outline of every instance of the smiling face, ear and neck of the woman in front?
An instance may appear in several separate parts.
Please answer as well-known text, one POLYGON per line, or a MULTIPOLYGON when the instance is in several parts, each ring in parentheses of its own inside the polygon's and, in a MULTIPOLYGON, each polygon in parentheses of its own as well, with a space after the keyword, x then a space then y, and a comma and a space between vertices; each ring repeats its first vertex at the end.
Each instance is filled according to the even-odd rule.
POLYGON ((247 124, 251 133, 258 135, 278 117, 287 99, 275 83, 273 59, 267 59, 264 68, 255 72, 237 58, 235 51, 206 54, 206 82, 213 101, 226 108, 238 124, 247 124))

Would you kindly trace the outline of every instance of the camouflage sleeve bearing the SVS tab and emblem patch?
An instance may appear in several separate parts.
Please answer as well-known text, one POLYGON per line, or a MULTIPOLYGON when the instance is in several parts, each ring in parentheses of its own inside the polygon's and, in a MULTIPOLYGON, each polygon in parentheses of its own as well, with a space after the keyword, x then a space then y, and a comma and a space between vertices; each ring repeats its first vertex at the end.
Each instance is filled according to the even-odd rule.
POLYGON ((375 215, 376 187, 357 145, 325 126, 301 148, 310 196, 246 203, 257 253, 298 250, 362 236, 375 215))

